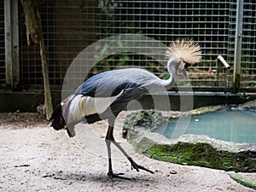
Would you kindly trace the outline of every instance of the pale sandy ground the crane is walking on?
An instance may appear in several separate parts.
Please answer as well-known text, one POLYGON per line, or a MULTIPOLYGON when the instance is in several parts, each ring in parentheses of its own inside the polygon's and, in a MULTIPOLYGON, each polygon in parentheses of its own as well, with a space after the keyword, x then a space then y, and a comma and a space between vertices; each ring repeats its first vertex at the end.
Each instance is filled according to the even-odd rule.
POLYGON ((47 121, 36 119, 36 113, 15 114, 11 118, 2 113, 0 191, 253 192, 236 183, 228 172, 180 166, 135 153, 122 138, 121 126, 126 114, 119 115, 114 137, 138 164, 154 171, 154 175, 131 170, 129 161, 113 147, 113 171, 124 172, 131 180, 108 178, 106 121, 79 124, 78 136, 69 138, 66 131, 54 131, 47 121))

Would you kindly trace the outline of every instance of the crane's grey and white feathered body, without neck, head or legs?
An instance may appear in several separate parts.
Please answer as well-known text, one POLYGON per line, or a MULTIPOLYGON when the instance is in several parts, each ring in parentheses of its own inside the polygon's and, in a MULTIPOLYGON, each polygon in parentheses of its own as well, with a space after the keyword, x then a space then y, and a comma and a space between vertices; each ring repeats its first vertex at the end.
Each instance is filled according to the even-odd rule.
MULTIPOLYGON (((70 125, 84 119, 94 123, 98 120, 93 119, 96 117, 95 114, 101 119, 107 119, 109 113, 117 116, 126 108, 128 102, 138 100, 148 92, 170 88, 165 84, 168 85, 167 80, 161 80, 141 68, 99 73, 84 81, 73 95, 69 96, 68 108, 62 108, 67 113, 66 124, 70 125)), ((67 102, 62 102, 62 106, 66 106, 67 102)))

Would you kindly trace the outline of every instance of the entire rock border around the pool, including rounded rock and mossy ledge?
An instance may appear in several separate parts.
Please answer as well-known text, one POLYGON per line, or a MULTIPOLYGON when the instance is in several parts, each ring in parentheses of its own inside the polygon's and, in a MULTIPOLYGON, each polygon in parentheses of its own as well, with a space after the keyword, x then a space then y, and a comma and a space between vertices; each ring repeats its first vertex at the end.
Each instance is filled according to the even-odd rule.
MULTIPOLYGON (((238 108, 255 107, 255 103, 248 102, 238 108)), ((175 117, 209 113, 223 108, 224 106, 218 105, 184 113, 177 112, 175 117)), ((164 117, 154 110, 139 110, 126 117, 123 131, 137 152, 155 160, 225 171, 256 172, 256 143, 230 143, 198 135, 183 135, 170 140, 151 132, 175 117, 164 117)))

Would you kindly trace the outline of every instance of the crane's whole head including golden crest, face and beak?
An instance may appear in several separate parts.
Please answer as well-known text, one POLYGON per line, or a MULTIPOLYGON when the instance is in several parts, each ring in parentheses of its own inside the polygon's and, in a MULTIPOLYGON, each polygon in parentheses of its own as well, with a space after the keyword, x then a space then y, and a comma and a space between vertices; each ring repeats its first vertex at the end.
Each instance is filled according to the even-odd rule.
POLYGON ((201 48, 192 39, 176 40, 166 50, 167 69, 176 78, 177 71, 188 77, 186 68, 189 64, 201 62, 201 48))

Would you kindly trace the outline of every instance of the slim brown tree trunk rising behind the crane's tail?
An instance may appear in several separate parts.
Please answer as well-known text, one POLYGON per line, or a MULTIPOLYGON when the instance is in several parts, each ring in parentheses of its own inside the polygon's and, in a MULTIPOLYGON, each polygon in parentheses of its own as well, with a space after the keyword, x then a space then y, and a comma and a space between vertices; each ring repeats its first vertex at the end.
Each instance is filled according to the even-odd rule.
POLYGON ((53 112, 53 108, 49 87, 49 71, 47 57, 44 48, 44 38, 38 10, 40 7, 40 2, 41 1, 38 0, 21 0, 23 12, 25 15, 27 44, 28 46, 30 46, 31 42, 34 42, 35 44, 38 44, 40 48, 42 73, 44 77, 44 113, 46 115, 46 119, 49 119, 51 113, 53 112))

